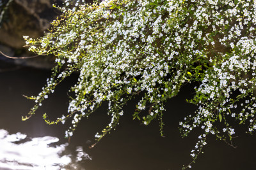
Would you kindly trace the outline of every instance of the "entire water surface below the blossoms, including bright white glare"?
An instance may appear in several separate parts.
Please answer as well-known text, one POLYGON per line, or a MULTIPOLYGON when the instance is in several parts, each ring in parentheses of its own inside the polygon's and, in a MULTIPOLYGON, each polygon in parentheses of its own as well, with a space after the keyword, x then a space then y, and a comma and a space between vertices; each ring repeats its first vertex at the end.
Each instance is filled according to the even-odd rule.
MULTIPOLYGON (((33 106, 33 102, 22 94, 38 94, 50 72, 12 68, 10 66, 0 72, 0 129, 5 129, 0 131, 0 169, 64 169, 58 165, 70 164, 66 169, 167 170, 180 169, 182 164, 190 162, 189 154, 198 135, 195 131, 189 137, 181 138, 178 127, 185 115, 195 111, 195 106, 184 102, 191 96, 193 87, 183 87, 179 96, 166 103, 165 138, 159 135, 157 121, 148 126, 132 121, 134 102, 131 102, 125 106, 125 114, 116 131, 90 149, 88 146, 93 144, 95 133, 110 121, 106 115, 106 104, 102 104, 90 118, 82 120, 70 143, 65 144, 68 143, 64 139, 68 121, 67 125, 46 125, 42 114, 46 112, 50 118, 56 118, 67 113, 68 87, 76 83, 77 76, 64 81, 34 117, 22 122, 21 117, 33 106), (82 161, 76 161, 77 154, 82 155, 82 161)), ((192 169, 256 169, 256 138, 243 131, 237 130, 236 134, 239 136, 234 139, 236 149, 210 137, 205 153, 200 155, 192 169)))

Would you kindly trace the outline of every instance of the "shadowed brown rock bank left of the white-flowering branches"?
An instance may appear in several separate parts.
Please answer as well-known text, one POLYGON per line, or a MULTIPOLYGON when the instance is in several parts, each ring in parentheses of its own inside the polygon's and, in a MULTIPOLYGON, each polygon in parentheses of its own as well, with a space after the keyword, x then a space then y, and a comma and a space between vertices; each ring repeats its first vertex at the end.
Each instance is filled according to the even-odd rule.
MULTIPOLYGON (((23 46, 26 44, 23 36, 38 38, 50 27, 52 20, 60 12, 52 8, 52 3, 61 4, 61 0, 13 0, 6 10, 5 19, 0 28, 0 50, 6 55, 24 57, 35 55, 28 53, 23 46)), ((42 56, 35 59, 7 59, 0 55, 1 62, 12 62, 24 66, 49 69, 53 57, 42 56)))

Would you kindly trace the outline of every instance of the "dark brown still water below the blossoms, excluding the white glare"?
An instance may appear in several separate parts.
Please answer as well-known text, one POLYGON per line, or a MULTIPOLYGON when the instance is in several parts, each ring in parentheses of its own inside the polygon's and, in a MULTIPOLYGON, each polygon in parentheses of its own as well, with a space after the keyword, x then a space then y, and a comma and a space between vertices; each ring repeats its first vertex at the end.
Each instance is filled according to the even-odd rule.
MULTIPOLYGON (((15 67, 9 66, 13 69, 15 67)), ((53 119, 67 113, 67 91, 76 83, 76 74, 57 87, 55 94, 49 96, 35 116, 26 122, 21 121, 21 117, 33 106, 33 102, 22 94, 38 94, 49 76, 49 71, 31 67, 0 73, 0 129, 7 129, 10 133, 22 132, 31 138, 56 136, 60 138, 60 143, 67 142, 64 138, 65 129, 70 122, 67 121, 65 125, 46 125, 42 114, 47 113, 53 119)), ((88 148, 94 142, 95 133, 100 132, 110 121, 106 115, 106 104, 102 104, 91 117, 81 121, 70 140, 69 149, 75 150, 76 146, 83 146, 84 151, 92 157, 92 160, 83 162, 83 167, 89 170, 180 169, 182 164, 191 160, 189 154, 200 132, 195 130, 187 138, 181 138, 178 129, 184 116, 195 111, 195 106, 185 102, 191 97, 191 89, 191 85, 183 87, 179 96, 166 103, 164 138, 160 137, 157 121, 145 126, 132 120, 135 102, 131 101, 125 106, 125 114, 116 131, 104 137, 94 148, 88 148)), ((204 154, 198 157, 193 169, 255 169, 255 136, 245 134, 245 130, 241 126, 236 131, 239 137, 233 142, 237 148, 209 136, 204 154)))

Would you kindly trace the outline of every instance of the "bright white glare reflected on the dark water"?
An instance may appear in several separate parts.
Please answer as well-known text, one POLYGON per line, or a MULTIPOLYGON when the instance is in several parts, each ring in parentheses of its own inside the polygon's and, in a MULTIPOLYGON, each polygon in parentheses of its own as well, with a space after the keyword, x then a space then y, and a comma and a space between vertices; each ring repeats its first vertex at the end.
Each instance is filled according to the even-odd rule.
POLYGON ((71 153, 63 155, 68 143, 49 146, 59 141, 56 137, 44 136, 29 141, 25 139, 28 139, 26 134, 9 134, 8 131, 0 129, 0 169, 77 169, 77 162, 91 159, 83 152, 83 148, 78 146, 76 161, 72 161, 74 159, 71 153))

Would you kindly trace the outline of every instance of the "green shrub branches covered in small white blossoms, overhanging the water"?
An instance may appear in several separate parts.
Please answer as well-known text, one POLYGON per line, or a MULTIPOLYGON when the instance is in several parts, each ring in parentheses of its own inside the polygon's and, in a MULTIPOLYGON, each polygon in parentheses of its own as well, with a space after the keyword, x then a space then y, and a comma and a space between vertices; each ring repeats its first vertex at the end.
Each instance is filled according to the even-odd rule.
POLYGON ((100 140, 118 124, 124 104, 138 94, 142 97, 134 119, 148 125, 158 118, 163 135, 164 103, 191 82, 200 82, 188 101, 198 110, 180 122, 180 131, 187 136, 195 127, 203 129, 191 152, 193 161, 206 145, 207 135, 232 139, 235 130, 228 122, 232 118, 239 124, 248 122, 249 133, 256 129, 254 1, 65 3, 59 8, 63 15, 52 22, 44 37, 25 37, 29 50, 56 56, 47 85, 38 96, 29 97, 36 102, 29 117, 58 83, 76 71, 79 78, 71 89, 76 96, 70 100, 68 115, 56 122, 44 115, 48 124, 64 123, 72 117, 67 137, 81 118, 106 101, 111 122, 95 135, 100 140))

